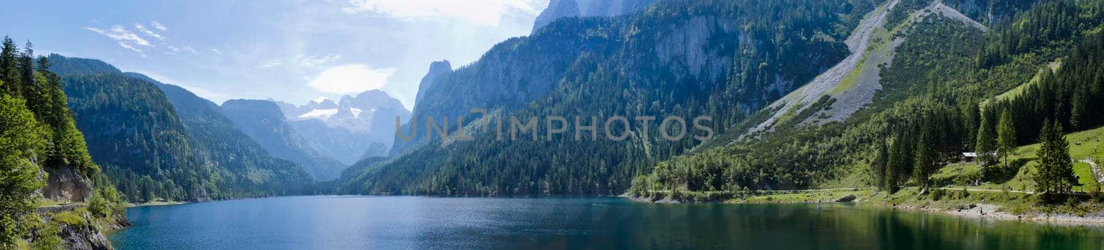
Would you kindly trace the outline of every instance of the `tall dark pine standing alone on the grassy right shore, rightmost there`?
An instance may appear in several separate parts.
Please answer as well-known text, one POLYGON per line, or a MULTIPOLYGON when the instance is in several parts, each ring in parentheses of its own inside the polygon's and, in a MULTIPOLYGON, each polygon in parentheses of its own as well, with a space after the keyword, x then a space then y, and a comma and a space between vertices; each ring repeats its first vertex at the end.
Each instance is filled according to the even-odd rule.
POLYGON ((1068 191, 1070 177, 1073 176, 1073 163, 1070 160, 1070 143, 1062 135, 1062 126, 1048 119, 1040 132, 1038 173, 1034 175, 1036 192, 1062 193, 1068 191))

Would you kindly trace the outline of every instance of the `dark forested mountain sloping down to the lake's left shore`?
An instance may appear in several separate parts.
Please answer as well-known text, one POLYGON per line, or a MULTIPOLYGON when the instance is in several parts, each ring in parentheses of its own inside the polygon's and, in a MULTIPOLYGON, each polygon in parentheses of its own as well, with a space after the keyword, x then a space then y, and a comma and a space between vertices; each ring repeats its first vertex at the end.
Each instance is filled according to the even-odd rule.
POLYGON ((130 200, 299 194, 312 182, 183 88, 96 59, 49 58, 64 65, 68 105, 93 160, 130 200))

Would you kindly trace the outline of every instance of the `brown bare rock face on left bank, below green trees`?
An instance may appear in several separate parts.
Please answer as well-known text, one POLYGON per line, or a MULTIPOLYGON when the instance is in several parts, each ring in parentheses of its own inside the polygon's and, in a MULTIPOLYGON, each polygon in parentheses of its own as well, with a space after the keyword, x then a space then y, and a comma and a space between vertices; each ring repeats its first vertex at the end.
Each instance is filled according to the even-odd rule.
POLYGON ((79 171, 68 167, 46 167, 50 175, 42 195, 49 199, 87 202, 92 196, 92 181, 84 177, 79 171))

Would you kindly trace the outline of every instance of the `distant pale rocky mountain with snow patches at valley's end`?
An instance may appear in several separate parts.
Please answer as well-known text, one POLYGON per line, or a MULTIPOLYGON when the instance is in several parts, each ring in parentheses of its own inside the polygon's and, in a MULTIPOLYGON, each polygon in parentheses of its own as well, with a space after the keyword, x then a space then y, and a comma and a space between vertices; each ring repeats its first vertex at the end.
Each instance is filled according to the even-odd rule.
POLYGON ((386 155, 395 134, 395 118, 405 122, 411 117, 399 99, 378 89, 344 96, 339 101, 320 99, 300 107, 286 102, 277 106, 307 148, 346 165, 386 155))

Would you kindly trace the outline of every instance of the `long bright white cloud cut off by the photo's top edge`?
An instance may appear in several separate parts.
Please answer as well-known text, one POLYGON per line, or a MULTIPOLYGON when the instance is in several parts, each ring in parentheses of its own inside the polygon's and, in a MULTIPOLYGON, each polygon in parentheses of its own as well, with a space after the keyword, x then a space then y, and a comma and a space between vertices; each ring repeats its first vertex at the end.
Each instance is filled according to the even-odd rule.
POLYGON ((535 14, 543 6, 526 0, 349 0, 341 10, 349 13, 369 12, 392 18, 452 18, 466 22, 498 25, 510 11, 535 14))

